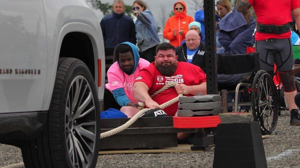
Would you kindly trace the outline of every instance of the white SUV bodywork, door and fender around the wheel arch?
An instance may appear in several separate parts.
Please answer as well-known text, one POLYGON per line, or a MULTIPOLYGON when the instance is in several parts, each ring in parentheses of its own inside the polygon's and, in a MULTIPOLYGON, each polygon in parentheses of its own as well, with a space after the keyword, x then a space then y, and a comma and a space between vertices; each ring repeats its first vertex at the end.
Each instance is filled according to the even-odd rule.
POLYGON ((102 100, 102 31, 100 21, 85 0, 0 1, 0 69, 9 69, 9 74, 0 74, 0 113, 49 109, 61 43, 70 32, 82 32, 91 39, 96 86, 101 59, 102 80, 97 92, 102 100), (16 74, 15 69, 21 74, 16 74), (30 75, 25 74, 26 69, 30 69, 30 75))

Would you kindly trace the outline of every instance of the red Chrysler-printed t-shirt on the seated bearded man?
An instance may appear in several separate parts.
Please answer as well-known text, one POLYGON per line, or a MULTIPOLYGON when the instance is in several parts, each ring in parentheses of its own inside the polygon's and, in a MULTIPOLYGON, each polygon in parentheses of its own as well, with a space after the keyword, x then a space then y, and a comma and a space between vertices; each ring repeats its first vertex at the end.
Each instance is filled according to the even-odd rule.
MULTIPOLYGON (((187 86, 199 85, 202 82, 206 82, 206 74, 201 68, 188 62, 177 62, 177 69, 175 73, 170 76, 162 75, 155 67, 152 62, 147 68, 140 70, 135 82, 144 82, 149 88, 149 95, 152 95, 155 91, 161 89, 169 82, 176 82, 178 84, 185 84, 187 86)), ((168 88, 167 90, 159 93, 152 97, 158 104, 163 104, 175 97, 178 94, 174 87, 168 88)), ((187 95, 192 96, 192 95, 187 95)), ((178 110, 178 102, 168 106, 164 111, 168 116, 174 116, 178 110)))

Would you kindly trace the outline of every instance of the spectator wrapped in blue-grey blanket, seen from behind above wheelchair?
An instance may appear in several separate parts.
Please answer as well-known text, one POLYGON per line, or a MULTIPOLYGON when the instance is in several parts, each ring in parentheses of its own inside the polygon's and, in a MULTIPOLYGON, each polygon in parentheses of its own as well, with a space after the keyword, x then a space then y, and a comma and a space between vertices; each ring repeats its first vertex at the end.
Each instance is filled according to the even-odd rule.
POLYGON ((246 54, 246 47, 253 46, 253 32, 256 22, 250 9, 239 13, 236 7, 228 13, 219 25, 219 42, 225 48, 225 53, 246 54))

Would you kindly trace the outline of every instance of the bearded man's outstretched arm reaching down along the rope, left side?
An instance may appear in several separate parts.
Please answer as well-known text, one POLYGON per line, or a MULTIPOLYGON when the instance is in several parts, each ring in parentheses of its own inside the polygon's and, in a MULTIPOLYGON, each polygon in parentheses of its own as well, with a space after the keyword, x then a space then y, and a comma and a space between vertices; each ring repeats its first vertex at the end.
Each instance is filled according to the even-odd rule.
POLYGON ((145 103, 148 108, 161 108, 159 104, 153 101, 148 94, 149 88, 144 82, 135 82, 133 84, 133 95, 138 102, 145 103))

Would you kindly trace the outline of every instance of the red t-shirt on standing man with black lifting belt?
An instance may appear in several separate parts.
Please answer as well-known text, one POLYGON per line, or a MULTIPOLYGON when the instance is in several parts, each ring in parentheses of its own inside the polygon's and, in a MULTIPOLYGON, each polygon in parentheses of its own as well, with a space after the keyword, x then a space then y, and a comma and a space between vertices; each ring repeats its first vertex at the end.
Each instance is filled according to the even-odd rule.
MULTIPOLYGON (((260 24, 276 24, 277 26, 292 21, 291 10, 300 6, 300 0, 249 0, 260 24)), ((255 40, 286 39, 290 38, 291 32, 283 34, 255 33, 255 40)))

